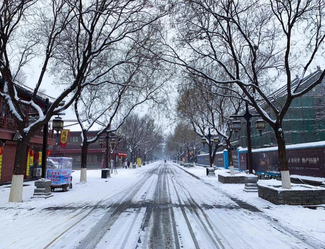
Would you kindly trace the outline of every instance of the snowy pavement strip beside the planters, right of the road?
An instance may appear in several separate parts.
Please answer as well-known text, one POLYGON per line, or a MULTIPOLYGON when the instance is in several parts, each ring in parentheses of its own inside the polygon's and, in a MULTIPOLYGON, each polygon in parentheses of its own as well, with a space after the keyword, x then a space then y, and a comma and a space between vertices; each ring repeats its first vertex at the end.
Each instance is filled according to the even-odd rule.
MULTIPOLYGON (((178 165, 178 167, 180 166, 178 165)), ((226 191, 227 193, 239 197, 241 200, 258 207, 283 225, 288 225, 290 223, 290 226, 305 231, 307 234, 318 238, 325 244, 325 205, 320 205, 317 209, 309 209, 300 205, 275 205, 258 197, 257 192, 247 193, 243 191, 245 184, 220 183, 218 181, 218 173, 229 172, 229 169, 218 168, 215 170, 216 177, 207 177, 206 168, 201 166, 183 169, 200 177, 202 180, 209 182, 217 189, 226 191)), ((275 179, 259 180, 258 183, 265 185, 278 183, 281 185, 281 181, 275 179)))

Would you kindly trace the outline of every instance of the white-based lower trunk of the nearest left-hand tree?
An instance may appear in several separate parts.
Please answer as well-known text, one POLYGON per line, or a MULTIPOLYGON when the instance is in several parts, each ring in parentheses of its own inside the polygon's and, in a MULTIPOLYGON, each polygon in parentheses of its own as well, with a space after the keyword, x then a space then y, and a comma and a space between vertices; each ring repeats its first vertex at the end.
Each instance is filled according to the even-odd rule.
POLYGON ((17 141, 14 170, 12 173, 9 202, 22 202, 22 188, 26 167, 26 150, 29 136, 17 141))

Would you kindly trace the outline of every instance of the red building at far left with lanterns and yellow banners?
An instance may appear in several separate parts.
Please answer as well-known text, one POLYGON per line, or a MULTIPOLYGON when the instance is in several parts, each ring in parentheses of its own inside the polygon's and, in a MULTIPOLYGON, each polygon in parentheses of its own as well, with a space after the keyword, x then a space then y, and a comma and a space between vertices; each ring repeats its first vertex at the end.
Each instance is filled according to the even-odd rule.
MULTIPOLYGON (((32 97, 32 91, 27 88, 16 84, 15 85, 18 97, 22 100, 29 101, 32 97)), ((3 91, 3 81, 0 77, 0 91, 3 91)), ((37 96, 35 103, 41 108, 45 108, 45 98, 37 96)), ((37 113, 36 109, 31 106, 26 106, 20 103, 20 107, 24 114, 37 113)), ((16 144, 17 144, 17 125, 15 120, 11 117, 9 113, 9 108, 0 96, 0 145, 2 145, 2 164, 0 164, 0 183, 10 182, 12 178, 12 172, 14 168, 14 159, 16 155, 16 144)), ((27 118, 28 122, 28 118, 27 118)), ((27 126, 27 124, 26 124, 27 126)), ((50 146, 55 145, 55 139, 53 131, 48 131, 47 143, 50 146)), ((26 151, 26 168, 24 179, 37 177, 40 175, 40 171, 36 174, 36 168, 41 168, 41 157, 42 157, 42 145, 43 145, 43 130, 35 132, 26 151), (28 160, 27 160, 28 159, 28 160)))

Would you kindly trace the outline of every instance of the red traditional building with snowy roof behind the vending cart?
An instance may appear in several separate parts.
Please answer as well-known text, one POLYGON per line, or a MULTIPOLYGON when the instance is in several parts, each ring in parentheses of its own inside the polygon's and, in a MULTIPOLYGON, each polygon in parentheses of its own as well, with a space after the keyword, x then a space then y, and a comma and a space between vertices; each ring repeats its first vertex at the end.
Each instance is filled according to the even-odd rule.
MULTIPOLYGON (((66 122, 65 122, 66 123, 66 122)), ((65 128, 69 129, 69 127, 65 128)), ((87 132, 87 138, 92 139, 96 136, 98 131, 87 132)), ((104 136, 104 135, 103 135, 104 136)), ((111 133, 111 136, 115 136, 111 133)), ((106 161, 106 139, 104 138, 104 145, 99 144, 99 139, 96 143, 92 143, 88 147, 87 151, 87 168, 101 168, 102 160, 106 161)), ((121 138, 117 138, 119 141, 111 155, 111 159, 118 167, 119 161, 123 162, 126 158, 126 142, 121 138)), ((72 168, 78 169, 81 167, 81 131, 70 131, 69 139, 66 147, 61 148, 57 140, 56 145, 50 150, 51 156, 53 157, 72 157, 72 168)))

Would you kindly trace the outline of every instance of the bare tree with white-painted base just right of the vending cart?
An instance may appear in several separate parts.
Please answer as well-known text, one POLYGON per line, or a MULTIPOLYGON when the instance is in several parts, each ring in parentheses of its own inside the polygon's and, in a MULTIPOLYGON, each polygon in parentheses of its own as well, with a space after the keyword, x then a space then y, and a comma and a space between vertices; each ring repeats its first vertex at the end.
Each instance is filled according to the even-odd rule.
MULTIPOLYGON (((114 70, 114 84, 87 86, 77 97, 74 110, 82 130, 80 181, 85 182, 87 179, 88 146, 95 143, 106 131, 117 131, 136 106, 146 101, 160 100, 160 94, 157 92, 163 92, 166 79, 160 77, 160 81, 153 82, 148 79, 148 75, 152 73, 168 75, 167 69, 159 61, 154 63, 152 58, 147 63, 144 60, 147 59, 140 57, 136 64, 121 65, 120 70, 114 70), (103 127, 95 137, 88 139, 87 131, 98 121, 103 124, 103 127)), ((154 147, 153 144, 150 146, 154 147)), ((150 146, 148 152, 153 149, 150 146)))

